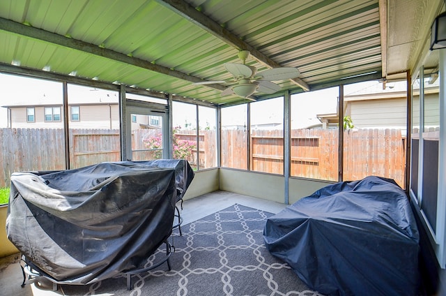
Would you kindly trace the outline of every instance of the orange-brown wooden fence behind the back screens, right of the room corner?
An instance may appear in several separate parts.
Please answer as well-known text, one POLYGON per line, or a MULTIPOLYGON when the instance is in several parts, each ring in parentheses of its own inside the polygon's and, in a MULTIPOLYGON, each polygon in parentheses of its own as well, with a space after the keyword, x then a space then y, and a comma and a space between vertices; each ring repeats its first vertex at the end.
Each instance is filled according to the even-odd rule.
MULTIPOLYGON (((222 166, 247 169, 247 132, 222 130, 222 166)), ((291 131, 292 177, 338 180, 338 130, 291 131)), ((284 173, 283 131, 252 131, 251 170, 284 173)), ((344 180, 377 175, 404 187, 406 138, 399 129, 357 129, 344 132, 344 180)))

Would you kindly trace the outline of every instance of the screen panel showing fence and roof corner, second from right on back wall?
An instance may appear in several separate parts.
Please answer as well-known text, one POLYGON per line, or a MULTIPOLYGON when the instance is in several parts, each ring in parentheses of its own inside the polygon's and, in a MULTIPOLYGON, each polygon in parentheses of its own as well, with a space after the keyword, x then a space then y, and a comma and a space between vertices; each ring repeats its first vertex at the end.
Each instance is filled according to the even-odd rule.
POLYGON ((291 96, 290 175, 337 181, 339 88, 291 96))

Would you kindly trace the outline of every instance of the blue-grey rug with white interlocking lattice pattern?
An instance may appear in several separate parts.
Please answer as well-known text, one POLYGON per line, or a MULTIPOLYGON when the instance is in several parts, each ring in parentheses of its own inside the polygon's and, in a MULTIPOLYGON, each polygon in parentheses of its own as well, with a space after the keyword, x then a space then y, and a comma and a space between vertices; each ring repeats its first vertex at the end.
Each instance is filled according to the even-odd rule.
MULTIPOLYGON (((233 205, 174 230, 171 270, 164 263, 132 276, 88 286, 60 286, 62 295, 301 295, 322 296, 309 290, 289 265, 270 255, 263 242, 263 227, 272 214, 233 205)), ((164 246, 164 245, 163 245, 164 246)), ((163 247, 162 247, 163 248, 163 247)), ((147 259, 150 267, 165 256, 165 249, 147 259)), ((165 248, 165 247, 164 247, 165 248)))

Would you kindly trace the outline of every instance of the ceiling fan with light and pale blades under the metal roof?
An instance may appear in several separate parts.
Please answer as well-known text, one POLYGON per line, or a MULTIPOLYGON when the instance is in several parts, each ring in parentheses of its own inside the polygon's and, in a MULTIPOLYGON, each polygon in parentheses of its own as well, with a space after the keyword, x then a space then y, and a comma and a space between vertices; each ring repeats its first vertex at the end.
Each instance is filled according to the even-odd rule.
POLYGON ((232 85, 222 91, 222 96, 236 94, 237 96, 246 98, 254 94, 255 91, 265 94, 274 94, 282 88, 271 81, 295 78, 300 75, 298 69, 293 67, 272 68, 257 73, 256 67, 245 64, 246 59, 249 57, 249 51, 241 50, 238 52, 238 57, 243 61, 243 64, 224 64, 224 68, 233 75, 233 79, 195 82, 194 84, 232 82, 232 85))

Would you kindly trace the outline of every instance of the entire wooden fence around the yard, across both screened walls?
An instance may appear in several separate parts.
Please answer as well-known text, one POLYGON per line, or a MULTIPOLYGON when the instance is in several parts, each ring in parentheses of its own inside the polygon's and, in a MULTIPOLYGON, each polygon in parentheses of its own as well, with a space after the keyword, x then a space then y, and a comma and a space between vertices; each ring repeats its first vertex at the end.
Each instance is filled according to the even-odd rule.
MULTIPOLYGON (((138 151, 134 160, 153 159, 153 151, 144 151, 144 140, 159 131, 132 131, 132 149, 138 151)), ((291 165, 293 177, 338 179, 337 129, 296 129, 291 131, 291 165)), ((71 129, 69 138, 71 168, 119 161, 121 158, 117 129, 71 129)), ((179 140, 197 140, 197 131, 177 133, 179 140)), ((221 161, 228 168, 247 169, 247 131, 222 130, 221 161)), ((187 160, 194 168, 217 165, 215 131, 199 133, 197 149, 187 160)), ((65 140, 63 129, 2 128, 0 129, 0 187, 9 186, 13 172, 27 170, 63 170, 65 140)), ((284 173, 283 131, 252 131, 250 170, 282 175, 284 173)), ((397 129, 359 129, 344 132, 344 179, 362 179, 378 175, 394 179, 404 186, 406 139, 397 129)))

